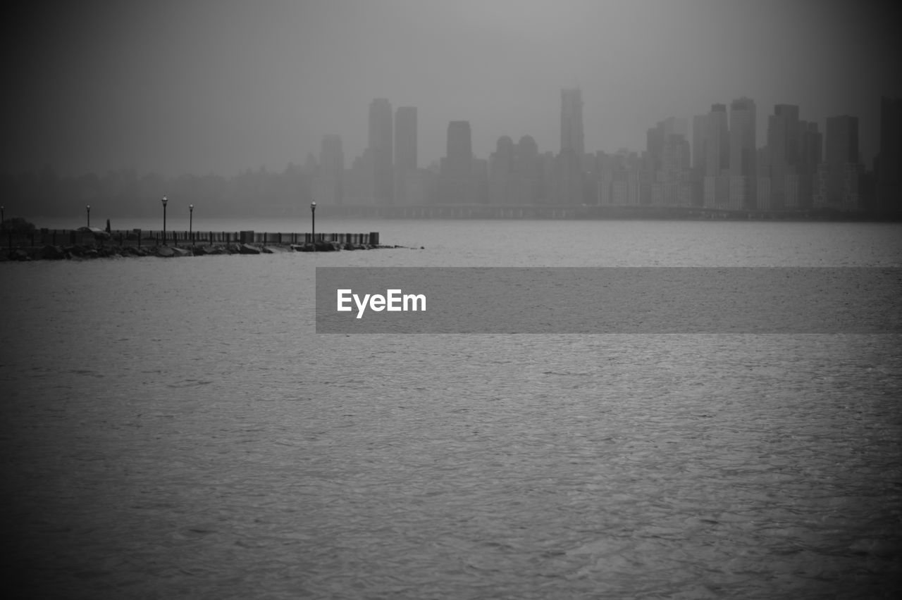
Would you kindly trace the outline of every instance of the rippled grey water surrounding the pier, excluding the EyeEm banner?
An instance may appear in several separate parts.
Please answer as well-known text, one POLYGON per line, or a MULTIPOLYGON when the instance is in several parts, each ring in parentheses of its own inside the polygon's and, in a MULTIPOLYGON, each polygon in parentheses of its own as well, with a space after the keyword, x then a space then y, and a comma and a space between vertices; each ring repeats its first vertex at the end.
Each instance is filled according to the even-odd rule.
POLYGON ((317 267, 900 268, 902 224, 317 216, 391 247, 0 264, 7 589, 898 597, 902 335, 324 334, 314 301, 317 267))

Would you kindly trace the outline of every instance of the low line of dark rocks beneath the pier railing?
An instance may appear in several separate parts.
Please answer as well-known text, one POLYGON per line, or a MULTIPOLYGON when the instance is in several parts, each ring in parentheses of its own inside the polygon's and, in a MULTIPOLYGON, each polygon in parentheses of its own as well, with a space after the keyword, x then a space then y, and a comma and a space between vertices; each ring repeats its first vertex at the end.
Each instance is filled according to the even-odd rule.
POLYGON ((273 254, 276 252, 335 252, 338 250, 375 250, 400 248, 380 244, 339 243, 317 241, 315 244, 250 244, 229 242, 195 246, 136 246, 136 245, 69 245, 29 246, 0 251, 0 261, 5 260, 83 260, 125 257, 176 258, 185 256, 212 256, 217 254, 273 254))

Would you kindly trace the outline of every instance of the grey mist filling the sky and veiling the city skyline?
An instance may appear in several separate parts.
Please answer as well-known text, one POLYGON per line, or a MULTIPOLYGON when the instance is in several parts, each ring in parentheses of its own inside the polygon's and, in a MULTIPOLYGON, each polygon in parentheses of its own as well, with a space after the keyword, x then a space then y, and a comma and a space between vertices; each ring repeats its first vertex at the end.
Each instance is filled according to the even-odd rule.
POLYGON ((163 193, 217 214, 885 206, 889 23, 835 0, 37 3, 5 23, 2 190, 34 217, 163 193))

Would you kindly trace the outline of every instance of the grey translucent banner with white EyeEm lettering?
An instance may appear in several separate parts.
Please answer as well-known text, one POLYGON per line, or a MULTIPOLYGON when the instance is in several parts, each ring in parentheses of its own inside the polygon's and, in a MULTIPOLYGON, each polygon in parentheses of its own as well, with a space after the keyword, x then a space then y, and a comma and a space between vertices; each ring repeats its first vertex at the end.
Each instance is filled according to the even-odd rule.
POLYGON ((317 332, 902 333, 902 268, 318 267, 317 332))

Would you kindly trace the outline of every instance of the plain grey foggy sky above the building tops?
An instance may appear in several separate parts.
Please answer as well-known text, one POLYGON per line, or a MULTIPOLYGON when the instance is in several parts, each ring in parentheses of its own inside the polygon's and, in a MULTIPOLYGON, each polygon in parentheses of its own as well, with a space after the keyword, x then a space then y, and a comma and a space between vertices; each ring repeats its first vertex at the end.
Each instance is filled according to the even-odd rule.
MULTIPOLYGON (((560 89, 583 89, 585 148, 642 150, 669 116, 748 95, 759 146, 778 103, 824 129, 900 95, 884 5, 841 0, 80 0, 5 19, 0 170, 281 170, 342 136, 374 97, 419 108, 419 162, 467 120, 474 152, 530 134, 557 152, 560 89)), ((892 27, 892 30, 891 30, 892 27)))

